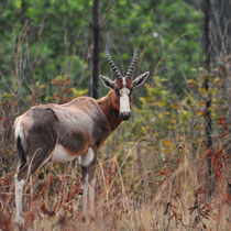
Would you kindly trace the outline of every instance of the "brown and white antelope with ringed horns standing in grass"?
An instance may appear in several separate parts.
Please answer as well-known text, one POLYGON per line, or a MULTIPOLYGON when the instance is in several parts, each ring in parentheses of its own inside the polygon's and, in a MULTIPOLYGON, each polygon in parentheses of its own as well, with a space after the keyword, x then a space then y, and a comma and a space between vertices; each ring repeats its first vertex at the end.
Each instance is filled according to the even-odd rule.
POLYGON ((23 223, 22 193, 29 177, 48 160, 65 163, 79 157, 82 173, 82 217, 95 217, 95 183, 97 154, 106 139, 117 127, 130 118, 133 89, 143 85, 150 73, 134 80, 138 62, 136 47, 129 69, 123 76, 112 61, 108 45, 106 58, 114 80, 100 75, 110 88, 100 99, 78 97, 64 105, 34 106, 14 121, 14 139, 19 154, 15 179, 15 221, 23 223), (89 212, 88 212, 89 191, 89 212))

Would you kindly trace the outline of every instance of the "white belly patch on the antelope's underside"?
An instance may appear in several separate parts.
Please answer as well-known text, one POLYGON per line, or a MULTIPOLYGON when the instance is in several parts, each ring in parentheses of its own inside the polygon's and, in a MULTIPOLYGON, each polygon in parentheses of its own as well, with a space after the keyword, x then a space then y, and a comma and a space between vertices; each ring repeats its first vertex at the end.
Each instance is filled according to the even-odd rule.
POLYGON ((69 155, 62 144, 56 144, 52 152, 52 160, 58 163, 72 162, 77 155, 69 155))

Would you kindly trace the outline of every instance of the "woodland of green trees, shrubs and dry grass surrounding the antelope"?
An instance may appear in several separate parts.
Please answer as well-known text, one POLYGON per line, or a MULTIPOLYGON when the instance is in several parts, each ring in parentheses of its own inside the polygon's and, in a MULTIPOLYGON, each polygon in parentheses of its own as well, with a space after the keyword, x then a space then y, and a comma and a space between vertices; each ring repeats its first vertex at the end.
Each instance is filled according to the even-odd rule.
MULTIPOLYGON (((96 2, 96 1, 95 1, 96 2)), ((94 1, 0 2, 0 229, 13 230, 12 124, 40 103, 90 95, 94 1)), ((231 217, 231 2, 99 1, 99 74, 139 52, 132 118, 97 170, 98 217, 80 219, 78 162, 43 167, 24 190, 26 229, 228 230, 231 217), (33 185, 33 186, 32 186, 33 185), (33 187, 33 195, 30 189, 33 187)), ((98 95, 108 92, 99 82, 98 95)))

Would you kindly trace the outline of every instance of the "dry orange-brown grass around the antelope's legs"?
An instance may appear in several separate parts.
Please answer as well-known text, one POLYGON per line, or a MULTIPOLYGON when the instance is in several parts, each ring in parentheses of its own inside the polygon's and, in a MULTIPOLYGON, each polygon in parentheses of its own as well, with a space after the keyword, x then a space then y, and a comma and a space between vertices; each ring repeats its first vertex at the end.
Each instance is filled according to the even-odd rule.
MULTIPOLYGON (((200 144, 195 151, 191 143, 185 142, 179 147, 180 155, 166 158, 142 140, 120 144, 113 152, 116 140, 117 135, 100 153, 95 220, 81 217, 77 162, 53 164, 42 168, 42 179, 35 174, 24 189, 25 229, 229 230, 230 198, 221 193, 224 190, 220 190, 219 182, 209 197, 200 144)), ((14 170, 6 173, 1 178, 0 230, 16 228, 13 174, 14 170)))

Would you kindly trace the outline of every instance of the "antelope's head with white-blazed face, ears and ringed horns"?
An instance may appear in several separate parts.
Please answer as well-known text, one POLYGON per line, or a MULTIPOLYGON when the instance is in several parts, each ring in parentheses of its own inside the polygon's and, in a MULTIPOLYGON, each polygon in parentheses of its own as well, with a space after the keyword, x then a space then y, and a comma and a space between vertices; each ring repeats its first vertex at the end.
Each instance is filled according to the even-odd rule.
POLYGON ((150 73, 146 72, 136 77, 134 80, 132 79, 132 75, 138 63, 138 52, 135 46, 133 50, 133 58, 125 76, 122 76, 119 68, 112 61, 108 50, 108 44, 106 45, 106 58, 116 76, 116 79, 111 80, 110 78, 101 75, 100 79, 106 87, 113 90, 112 103, 119 110, 120 118, 122 120, 128 120, 131 116, 133 89, 143 85, 150 73))

